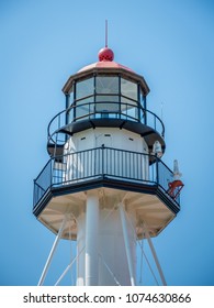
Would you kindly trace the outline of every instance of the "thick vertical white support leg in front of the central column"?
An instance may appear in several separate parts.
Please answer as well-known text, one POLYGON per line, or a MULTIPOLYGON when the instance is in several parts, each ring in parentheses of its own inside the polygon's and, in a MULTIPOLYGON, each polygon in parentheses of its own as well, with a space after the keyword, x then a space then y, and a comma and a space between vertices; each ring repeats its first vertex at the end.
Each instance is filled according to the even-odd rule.
POLYGON ((86 210, 86 286, 98 285, 99 197, 88 191, 86 210))

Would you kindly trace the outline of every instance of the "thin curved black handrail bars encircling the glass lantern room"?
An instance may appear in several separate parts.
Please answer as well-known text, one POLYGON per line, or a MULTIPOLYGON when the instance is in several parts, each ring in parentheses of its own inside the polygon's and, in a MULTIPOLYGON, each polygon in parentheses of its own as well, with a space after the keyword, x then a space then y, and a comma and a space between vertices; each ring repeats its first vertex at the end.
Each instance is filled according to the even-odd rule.
MULTIPOLYGON (((156 121, 158 121, 159 123, 160 123, 160 127, 161 127, 161 136, 165 136, 165 125, 164 125, 164 122, 161 121, 161 119, 158 117, 158 116, 156 116, 153 111, 150 111, 150 110, 148 110, 148 109, 144 109, 140 105, 138 105, 138 106, 134 106, 134 105, 132 105, 132 103, 126 103, 126 102, 113 102, 113 101, 108 101, 108 102, 105 102, 105 101, 100 101, 100 102, 85 102, 85 103, 81 103, 81 105, 78 105, 78 106, 75 106, 75 105, 71 105, 69 108, 67 108, 67 109, 64 109, 63 111, 60 111, 60 112, 58 112, 52 120, 50 120, 50 122, 49 122, 49 124, 48 124, 48 127, 47 127, 47 140, 48 140, 48 142, 52 142, 53 144, 56 144, 56 142, 55 142, 55 140, 53 139, 53 136, 55 135, 55 134, 57 134, 64 127, 66 127, 66 113, 69 113, 70 111, 72 111, 72 110, 78 110, 78 109, 80 109, 80 108, 82 108, 82 107, 90 107, 90 106, 92 106, 92 105, 103 105, 103 103, 108 103, 108 105, 115 105, 115 106, 119 106, 119 111, 108 111, 108 113, 109 114, 119 114, 119 116, 125 116, 128 120, 131 120, 131 121, 138 121, 138 122, 140 122, 140 123, 144 123, 144 124, 146 124, 147 125, 147 121, 146 121, 146 119, 147 119, 147 116, 148 114, 151 114, 153 116, 153 121, 155 122, 154 123, 154 127, 155 127, 155 130, 156 130, 156 121), (121 106, 125 106, 126 108, 125 108, 125 111, 127 112, 127 110, 128 109, 132 109, 132 108, 136 108, 136 109, 139 109, 139 111, 142 112, 142 114, 144 114, 144 122, 142 121, 142 118, 140 119, 138 119, 138 118, 134 118, 134 117, 132 117, 132 116, 128 116, 128 114, 125 114, 122 110, 120 111, 120 107, 121 106), (64 114, 64 119, 61 119, 60 117, 64 114), (61 124, 61 120, 63 120, 63 122, 64 122, 64 124, 61 124), (56 129, 54 129, 53 131, 52 131, 52 127, 54 125, 54 122, 55 121, 57 121, 58 123, 57 123, 57 128, 56 129)), ((77 121, 79 121, 79 120, 81 120, 81 119, 85 119, 85 118, 88 118, 89 116, 90 117, 93 117, 94 114, 105 114, 106 113, 106 111, 100 111, 100 112, 98 112, 98 111, 94 111, 94 112, 88 112, 88 113, 86 113, 86 114, 83 114, 83 116, 81 116, 81 117, 76 117, 76 118, 74 118, 72 119, 72 121, 71 122, 77 122, 77 121)), ((121 117, 119 117, 119 119, 120 119, 121 117)))

